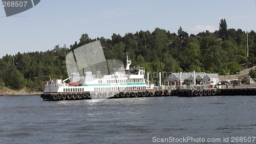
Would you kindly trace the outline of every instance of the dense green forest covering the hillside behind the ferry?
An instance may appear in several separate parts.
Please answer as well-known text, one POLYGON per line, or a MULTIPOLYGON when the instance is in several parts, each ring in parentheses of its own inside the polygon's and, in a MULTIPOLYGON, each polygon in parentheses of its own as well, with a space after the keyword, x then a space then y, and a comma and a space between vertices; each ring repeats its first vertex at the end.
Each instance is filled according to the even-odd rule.
POLYGON ((248 32, 247 57, 247 33, 227 28, 225 19, 219 24, 219 30, 214 33, 205 31, 196 35, 188 35, 182 27, 177 33, 155 28, 153 32, 126 33, 123 37, 113 34, 111 39, 91 39, 82 34, 69 47, 56 45, 45 52, 7 54, 0 59, 0 89, 44 91, 49 76, 52 79, 68 77, 66 55, 94 41, 101 42, 106 60, 121 60, 126 64, 123 53, 127 51, 132 60, 131 67, 145 67, 150 73, 165 72, 162 79, 172 72, 193 70, 219 75, 236 74, 256 64, 256 33, 253 30, 248 32))

